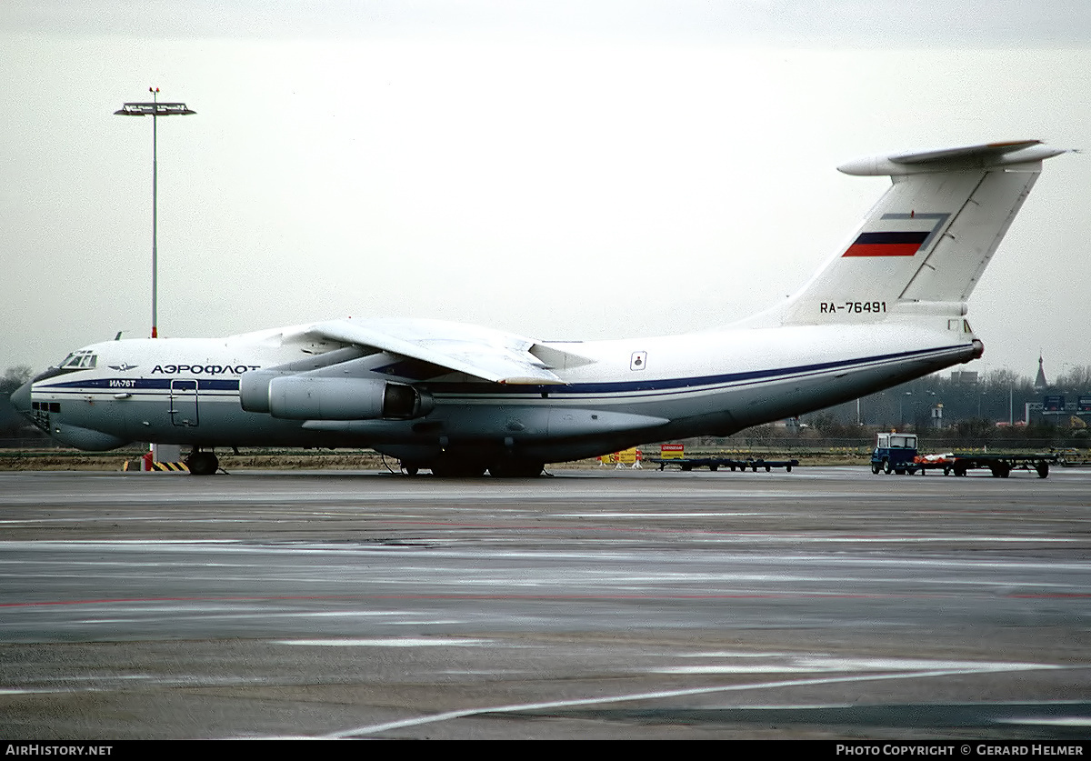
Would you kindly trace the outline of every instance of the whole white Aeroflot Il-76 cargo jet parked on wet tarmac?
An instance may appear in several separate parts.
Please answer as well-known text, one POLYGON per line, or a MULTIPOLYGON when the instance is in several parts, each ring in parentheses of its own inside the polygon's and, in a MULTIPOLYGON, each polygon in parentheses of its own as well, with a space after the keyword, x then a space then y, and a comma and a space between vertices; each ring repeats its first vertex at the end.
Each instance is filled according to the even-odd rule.
POLYGON ((1042 170, 1040 141, 879 155, 863 224, 794 295, 724 327, 541 341, 428 319, 332 319, 226 338, 93 343, 13 406, 60 442, 370 447, 407 473, 539 475, 551 462, 838 404, 984 350, 967 300, 1042 170))

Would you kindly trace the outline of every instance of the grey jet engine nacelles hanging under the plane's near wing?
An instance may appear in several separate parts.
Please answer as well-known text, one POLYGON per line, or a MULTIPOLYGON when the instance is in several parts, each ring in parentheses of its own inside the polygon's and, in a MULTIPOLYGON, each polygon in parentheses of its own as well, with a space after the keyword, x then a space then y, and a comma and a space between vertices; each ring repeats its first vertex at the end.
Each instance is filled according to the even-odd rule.
POLYGON ((374 378, 243 373, 242 409, 288 420, 410 420, 435 407, 412 386, 374 378))

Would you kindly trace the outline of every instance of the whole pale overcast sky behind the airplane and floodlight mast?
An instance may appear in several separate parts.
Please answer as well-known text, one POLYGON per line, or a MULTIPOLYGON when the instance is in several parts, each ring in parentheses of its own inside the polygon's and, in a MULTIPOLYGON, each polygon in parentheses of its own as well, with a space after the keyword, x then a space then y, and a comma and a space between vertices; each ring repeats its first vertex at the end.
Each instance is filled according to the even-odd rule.
MULTIPOLYGON (((848 159, 1091 148, 1091 3, 0 4, 0 370, 151 324, 351 315, 681 333, 795 290, 888 181, 848 159)), ((1046 162, 971 300, 979 370, 1091 364, 1091 156, 1046 162)))

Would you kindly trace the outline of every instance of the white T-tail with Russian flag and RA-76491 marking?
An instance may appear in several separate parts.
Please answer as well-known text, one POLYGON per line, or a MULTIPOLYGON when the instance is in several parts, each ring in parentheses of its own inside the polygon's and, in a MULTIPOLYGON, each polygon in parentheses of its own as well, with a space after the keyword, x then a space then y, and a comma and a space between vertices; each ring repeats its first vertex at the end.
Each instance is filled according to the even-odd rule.
POLYGON ((878 156, 847 174, 894 185, 864 224, 787 302, 752 324, 866 324, 913 315, 961 317, 966 302, 1030 194, 1039 141, 878 156))

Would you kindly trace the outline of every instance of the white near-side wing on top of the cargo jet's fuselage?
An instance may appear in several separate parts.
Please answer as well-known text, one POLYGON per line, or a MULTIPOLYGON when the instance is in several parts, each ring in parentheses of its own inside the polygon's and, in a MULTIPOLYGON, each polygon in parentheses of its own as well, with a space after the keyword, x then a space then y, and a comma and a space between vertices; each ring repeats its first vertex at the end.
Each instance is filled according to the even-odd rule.
POLYGON ((536 341, 473 325, 424 319, 333 319, 312 325, 309 333, 429 362, 493 383, 564 384, 530 352, 536 341))

